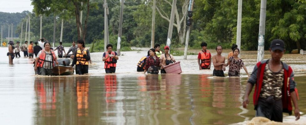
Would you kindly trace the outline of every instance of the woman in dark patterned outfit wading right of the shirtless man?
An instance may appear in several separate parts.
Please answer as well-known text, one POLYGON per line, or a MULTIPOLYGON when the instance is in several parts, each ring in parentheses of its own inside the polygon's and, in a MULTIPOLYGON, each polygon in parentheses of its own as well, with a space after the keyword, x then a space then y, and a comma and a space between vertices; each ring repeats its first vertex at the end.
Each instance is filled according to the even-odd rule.
POLYGON ((229 66, 228 76, 229 77, 240 77, 240 68, 243 67, 247 76, 250 77, 250 74, 247 72, 247 68, 244 66, 244 63, 241 58, 238 57, 240 50, 238 48, 233 49, 234 56, 228 58, 226 66, 229 66))

